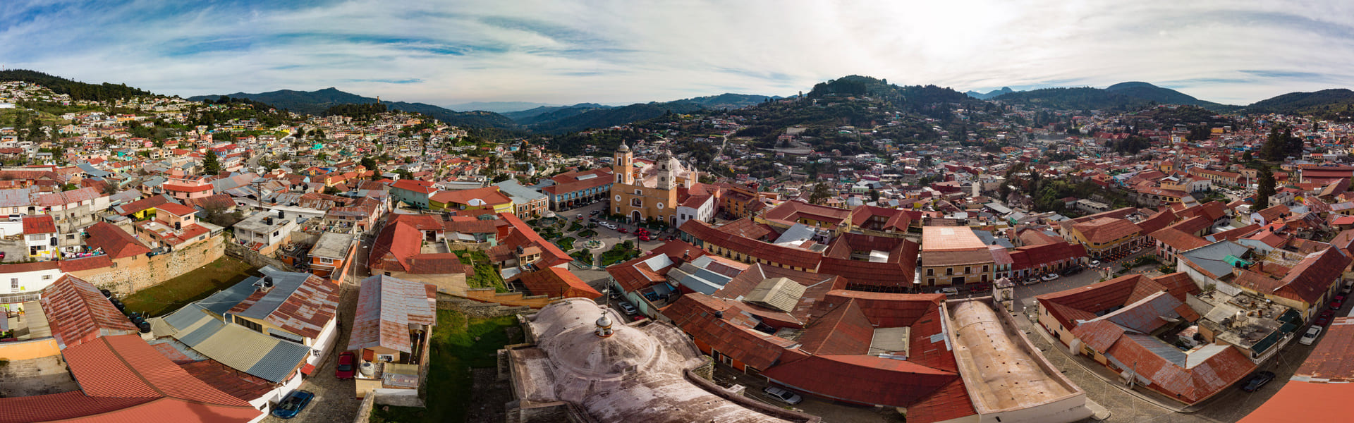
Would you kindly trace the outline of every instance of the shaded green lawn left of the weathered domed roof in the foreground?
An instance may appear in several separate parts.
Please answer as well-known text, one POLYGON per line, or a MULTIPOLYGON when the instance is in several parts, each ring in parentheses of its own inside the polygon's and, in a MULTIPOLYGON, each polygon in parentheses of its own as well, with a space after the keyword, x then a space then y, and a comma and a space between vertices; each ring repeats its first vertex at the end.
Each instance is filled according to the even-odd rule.
MULTIPOLYGON (((432 369, 428 370, 428 408, 376 407, 372 423, 459 423, 466 422, 470 395, 475 389, 470 369, 498 365, 497 351, 506 344, 521 343, 521 331, 509 336, 506 328, 516 328, 513 316, 470 319, 455 310, 437 310, 437 325, 432 329, 432 369)), ((502 404, 489 404, 502 407, 502 404)))

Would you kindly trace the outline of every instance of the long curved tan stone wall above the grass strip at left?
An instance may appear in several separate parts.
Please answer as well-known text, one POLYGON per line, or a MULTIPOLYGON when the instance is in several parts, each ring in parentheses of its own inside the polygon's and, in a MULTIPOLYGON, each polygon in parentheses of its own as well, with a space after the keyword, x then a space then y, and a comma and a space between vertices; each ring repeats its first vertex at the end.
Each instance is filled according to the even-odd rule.
POLYGON ((70 275, 126 296, 194 271, 223 254, 225 237, 217 236, 169 254, 152 258, 135 255, 114 260, 112 267, 72 271, 70 275))

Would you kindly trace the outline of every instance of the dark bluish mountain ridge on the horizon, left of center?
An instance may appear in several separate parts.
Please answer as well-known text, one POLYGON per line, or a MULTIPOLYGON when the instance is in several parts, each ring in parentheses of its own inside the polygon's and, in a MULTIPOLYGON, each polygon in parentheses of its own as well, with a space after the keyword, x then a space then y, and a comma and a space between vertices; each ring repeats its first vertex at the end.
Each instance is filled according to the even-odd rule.
MULTIPOLYGON (((292 91, 292 89, 279 89, 269 92, 248 94, 236 92, 227 94, 229 98, 250 99, 255 102, 263 102, 272 104, 278 108, 286 108, 294 113, 313 114, 318 115, 329 108, 330 106, 338 104, 368 104, 375 103, 376 99, 366 98, 351 92, 338 91, 338 88, 325 88, 320 91, 292 91)), ((199 95, 191 96, 188 100, 202 102, 206 99, 215 100, 221 98, 219 95, 199 95)), ((405 103, 405 102, 386 102, 382 104, 391 110, 421 113, 435 119, 447 122, 447 125, 455 126, 470 126, 470 127, 515 127, 512 119, 492 111, 454 111, 440 106, 427 104, 427 103, 405 103)))

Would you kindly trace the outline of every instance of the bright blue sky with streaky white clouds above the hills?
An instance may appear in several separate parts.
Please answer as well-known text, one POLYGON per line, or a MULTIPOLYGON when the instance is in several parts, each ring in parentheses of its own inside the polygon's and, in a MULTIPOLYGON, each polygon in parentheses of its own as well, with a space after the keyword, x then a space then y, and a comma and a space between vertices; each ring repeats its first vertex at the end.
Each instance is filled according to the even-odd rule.
POLYGON ((3 0, 0 65, 167 95, 626 104, 846 75, 1148 81, 1248 104, 1354 85, 1354 1, 3 0))

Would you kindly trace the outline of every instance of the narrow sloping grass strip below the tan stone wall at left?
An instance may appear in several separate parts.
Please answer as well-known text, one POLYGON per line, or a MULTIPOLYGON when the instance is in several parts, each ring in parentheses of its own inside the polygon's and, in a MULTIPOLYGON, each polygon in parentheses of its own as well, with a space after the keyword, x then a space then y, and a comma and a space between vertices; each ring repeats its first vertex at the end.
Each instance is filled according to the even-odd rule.
POLYGON ((221 256, 207 266, 122 297, 122 302, 127 305, 127 310, 160 316, 257 275, 260 274, 249 263, 221 256))

